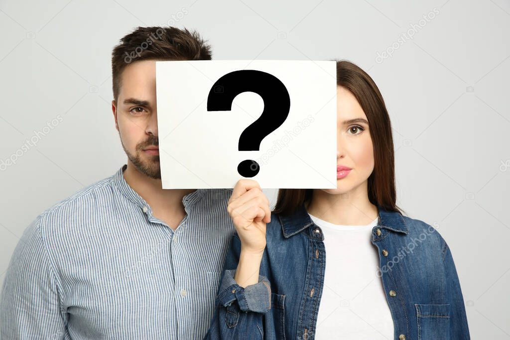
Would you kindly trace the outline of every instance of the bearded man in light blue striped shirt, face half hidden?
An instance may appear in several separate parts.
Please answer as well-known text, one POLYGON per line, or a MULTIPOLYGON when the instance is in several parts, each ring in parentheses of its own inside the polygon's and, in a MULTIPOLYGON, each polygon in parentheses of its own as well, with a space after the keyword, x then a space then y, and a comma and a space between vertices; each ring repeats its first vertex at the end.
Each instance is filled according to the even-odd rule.
POLYGON ((2 339, 206 334, 235 232, 232 190, 162 190, 156 60, 210 59, 186 29, 139 27, 113 49, 112 111, 127 164, 25 230, 3 286, 2 339))

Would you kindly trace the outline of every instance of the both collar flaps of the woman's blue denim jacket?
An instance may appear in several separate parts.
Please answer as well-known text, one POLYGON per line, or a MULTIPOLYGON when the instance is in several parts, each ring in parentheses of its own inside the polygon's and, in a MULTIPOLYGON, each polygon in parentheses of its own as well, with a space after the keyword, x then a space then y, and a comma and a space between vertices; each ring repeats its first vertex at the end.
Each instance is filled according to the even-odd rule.
MULTIPOLYGON (((377 210, 379 212, 379 220, 377 222, 379 228, 402 232, 404 234, 409 232, 407 225, 405 225, 404 219, 399 212, 387 211, 378 204, 377 210)), ((291 215, 278 215, 278 219, 282 224, 282 229, 286 239, 314 224, 308 214, 307 208, 304 206, 304 203, 291 215)))

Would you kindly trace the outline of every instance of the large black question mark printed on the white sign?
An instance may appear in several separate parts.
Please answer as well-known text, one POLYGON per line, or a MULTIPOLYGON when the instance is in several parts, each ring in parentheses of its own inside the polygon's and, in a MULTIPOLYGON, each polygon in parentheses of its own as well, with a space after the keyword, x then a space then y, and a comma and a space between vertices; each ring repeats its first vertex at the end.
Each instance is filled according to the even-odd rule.
MULTIPOLYGON (((220 77, 209 91, 207 111, 231 111, 234 98, 243 92, 254 92, 264 100, 262 115, 243 130, 239 151, 260 149, 262 140, 289 116, 290 96, 285 85, 274 75, 257 70, 239 70, 220 77)), ((243 177, 259 173, 260 165, 253 160, 239 163, 237 171, 243 177)))

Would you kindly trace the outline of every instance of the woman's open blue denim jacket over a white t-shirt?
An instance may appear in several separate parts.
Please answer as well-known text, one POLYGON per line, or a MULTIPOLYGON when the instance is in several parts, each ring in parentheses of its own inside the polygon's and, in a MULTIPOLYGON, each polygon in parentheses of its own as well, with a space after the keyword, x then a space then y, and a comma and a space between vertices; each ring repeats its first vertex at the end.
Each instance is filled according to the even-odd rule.
MULTIPOLYGON (((395 339, 469 339, 466 310, 453 258, 437 230, 377 206, 372 243, 395 339)), ((241 241, 234 234, 207 339, 314 338, 326 253, 324 236, 304 205, 271 216, 259 283, 234 280, 241 241)))

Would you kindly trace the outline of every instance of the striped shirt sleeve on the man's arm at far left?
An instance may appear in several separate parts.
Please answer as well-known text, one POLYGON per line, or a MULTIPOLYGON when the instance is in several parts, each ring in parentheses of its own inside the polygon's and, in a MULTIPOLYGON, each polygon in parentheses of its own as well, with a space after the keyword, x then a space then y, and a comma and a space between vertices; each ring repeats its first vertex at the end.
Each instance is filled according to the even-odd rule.
POLYGON ((0 297, 2 339, 61 339, 67 334, 59 281, 41 236, 41 215, 11 257, 0 297))

